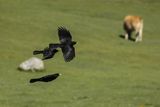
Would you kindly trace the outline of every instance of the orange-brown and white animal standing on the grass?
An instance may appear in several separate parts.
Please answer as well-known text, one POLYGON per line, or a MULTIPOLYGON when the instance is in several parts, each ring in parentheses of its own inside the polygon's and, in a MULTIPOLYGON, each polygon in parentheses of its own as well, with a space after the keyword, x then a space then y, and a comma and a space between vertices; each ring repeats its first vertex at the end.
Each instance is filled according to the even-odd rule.
POLYGON ((136 32, 135 42, 142 41, 143 19, 140 16, 128 15, 124 18, 123 27, 125 30, 125 39, 131 38, 132 32, 136 32))

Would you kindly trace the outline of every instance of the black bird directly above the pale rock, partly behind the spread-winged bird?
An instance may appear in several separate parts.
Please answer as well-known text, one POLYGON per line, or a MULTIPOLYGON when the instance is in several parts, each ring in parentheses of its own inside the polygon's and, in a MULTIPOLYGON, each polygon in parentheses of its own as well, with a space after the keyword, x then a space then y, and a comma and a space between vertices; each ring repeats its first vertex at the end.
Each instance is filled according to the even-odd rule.
POLYGON ((51 46, 49 45, 49 48, 45 48, 44 50, 35 50, 33 51, 33 55, 36 54, 43 54, 43 60, 53 58, 55 53, 58 52, 57 48, 60 47, 59 44, 52 44, 51 46))

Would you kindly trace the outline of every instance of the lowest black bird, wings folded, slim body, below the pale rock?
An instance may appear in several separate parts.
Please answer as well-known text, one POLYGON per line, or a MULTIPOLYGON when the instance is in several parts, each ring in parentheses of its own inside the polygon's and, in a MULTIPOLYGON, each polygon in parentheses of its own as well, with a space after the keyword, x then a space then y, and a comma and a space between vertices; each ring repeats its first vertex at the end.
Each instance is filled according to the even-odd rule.
POLYGON ((43 76, 43 77, 40 77, 40 78, 34 78, 34 79, 30 80, 30 83, 34 83, 34 82, 37 82, 37 81, 40 81, 40 82, 50 82, 52 80, 55 80, 60 75, 61 74, 56 73, 56 74, 46 75, 46 76, 43 76))

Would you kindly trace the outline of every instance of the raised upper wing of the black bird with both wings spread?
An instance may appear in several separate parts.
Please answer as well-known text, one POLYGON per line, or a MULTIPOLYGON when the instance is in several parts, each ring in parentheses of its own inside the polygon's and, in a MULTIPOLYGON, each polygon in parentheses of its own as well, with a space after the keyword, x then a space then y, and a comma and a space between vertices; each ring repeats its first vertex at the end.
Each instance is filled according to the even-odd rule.
POLYGON ((72 41, 72 36, 69 30, 64 27, 58 28, 58 36, 61 43, 66 43, 72 41))

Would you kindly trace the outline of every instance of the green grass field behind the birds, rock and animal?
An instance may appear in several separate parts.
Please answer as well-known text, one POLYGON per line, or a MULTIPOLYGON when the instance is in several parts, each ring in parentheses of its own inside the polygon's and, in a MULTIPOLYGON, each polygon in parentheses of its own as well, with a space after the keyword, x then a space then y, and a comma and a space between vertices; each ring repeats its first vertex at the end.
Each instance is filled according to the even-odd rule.
POLYGON ((0 0, 0 107, 160 107, 159 26, 159 0, 0 0), (141 43, 119 37, 128 14, 144 18, 141 43), (78 42, 76 58, 59 52, 44 72, 18 71, 33 50, 59 42, 59 26, 78 42))

